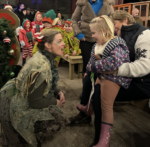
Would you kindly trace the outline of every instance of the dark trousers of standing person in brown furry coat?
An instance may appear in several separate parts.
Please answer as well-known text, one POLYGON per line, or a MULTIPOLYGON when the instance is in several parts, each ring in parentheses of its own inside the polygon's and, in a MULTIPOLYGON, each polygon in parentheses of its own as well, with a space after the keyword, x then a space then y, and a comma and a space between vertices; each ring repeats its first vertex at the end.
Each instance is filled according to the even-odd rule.
POLYGON ((86 66, 89 62, 93 45, 94 43, 91 43, 91 42, 80 41, 80 49, 81 49, 82 58, 83 58, 83 73, 86 72, 86 66))

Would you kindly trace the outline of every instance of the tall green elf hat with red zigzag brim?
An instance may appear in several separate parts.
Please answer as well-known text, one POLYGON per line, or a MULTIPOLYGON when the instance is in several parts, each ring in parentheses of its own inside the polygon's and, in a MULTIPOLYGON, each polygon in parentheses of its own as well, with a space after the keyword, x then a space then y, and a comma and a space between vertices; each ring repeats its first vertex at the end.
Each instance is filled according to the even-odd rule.
POLYGON ((56 18, 56 13, 53 9, 49 10, 43 15, 42 22, 49 22, 50 24, 53 23, 53 20, 56 18))

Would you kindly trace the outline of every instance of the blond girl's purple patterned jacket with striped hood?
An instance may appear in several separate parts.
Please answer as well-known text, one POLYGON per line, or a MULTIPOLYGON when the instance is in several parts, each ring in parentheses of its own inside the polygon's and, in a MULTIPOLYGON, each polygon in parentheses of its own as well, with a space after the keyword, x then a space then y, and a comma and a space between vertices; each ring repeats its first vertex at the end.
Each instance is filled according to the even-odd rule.
POLYGON ((105 79, 113 81, 127 89, 131 83, 131 78, 102 74, 104 71, 118 70, 123 63, 130 62, 129 50, 125 41, 120 37, 110 40, 104 49, 101 60, 97 60, 94 56, 95 46, 96 44, 93 46, 91 58, 87 65, 87 73, 91 65, 92 72, 97 73, 98 77, 103 76, 105 79))

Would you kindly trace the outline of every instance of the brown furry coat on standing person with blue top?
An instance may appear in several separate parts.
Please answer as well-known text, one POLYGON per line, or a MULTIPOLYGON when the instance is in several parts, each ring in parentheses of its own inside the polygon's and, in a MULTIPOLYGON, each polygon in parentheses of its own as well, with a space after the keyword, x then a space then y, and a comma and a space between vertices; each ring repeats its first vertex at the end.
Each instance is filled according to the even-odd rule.
POLYGON ((90 2, 91 1, 89 0, 77 1, 77 7, 72 16, 72 25, 75 36, 78 34, 84 34, 86 41, 95 42, 95 40, 92 38, 89 23, 95 17, 99 17, 101 15, 110 16, 114 12, 113 5, 115 3, 115 0, 103 0, 103 6, 101 7, 97 15, 95 14, 90 2), (79 25, 78 21, 80 19, 81 23, 79 25))

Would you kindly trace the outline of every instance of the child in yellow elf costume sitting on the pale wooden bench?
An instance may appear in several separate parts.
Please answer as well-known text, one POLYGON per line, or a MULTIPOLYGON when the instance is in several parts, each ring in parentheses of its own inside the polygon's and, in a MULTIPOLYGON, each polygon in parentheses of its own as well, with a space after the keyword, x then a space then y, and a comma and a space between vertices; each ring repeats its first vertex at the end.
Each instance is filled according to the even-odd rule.
POLYGON ((79 48, 79 40, 74 37, 74 32, 71 24, 71 19, 65 21, 64 28, 66 30, 64 37, 65 47, 63 49, 64 55, 68 58, 69 55, 76 56, 81 54, 81 50, 79 48))

